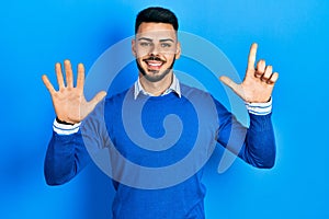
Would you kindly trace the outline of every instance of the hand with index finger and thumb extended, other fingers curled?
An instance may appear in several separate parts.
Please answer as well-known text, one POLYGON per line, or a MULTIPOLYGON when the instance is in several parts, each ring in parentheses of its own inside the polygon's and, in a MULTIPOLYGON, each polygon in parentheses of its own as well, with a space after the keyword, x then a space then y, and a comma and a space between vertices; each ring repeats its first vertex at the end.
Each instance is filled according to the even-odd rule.
POLYGON ((272 66, 265 66, 264 60, 260 60, 254 67, 257 44, 252 44, 248 57, 248 67, 242 83, 237 84, 226 76, 220 77, 220 81, 232 89, 243 101, 249 103, 265 103, 271 99, 274 84, 279 73, 273 73, 272 66))

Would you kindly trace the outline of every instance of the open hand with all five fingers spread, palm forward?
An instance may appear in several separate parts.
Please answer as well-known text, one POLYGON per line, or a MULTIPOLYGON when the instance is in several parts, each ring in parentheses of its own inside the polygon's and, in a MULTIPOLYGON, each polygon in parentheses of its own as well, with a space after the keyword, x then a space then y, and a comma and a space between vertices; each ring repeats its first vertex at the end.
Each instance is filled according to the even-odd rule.
POLYGON ((95 105, 104 99, 106 92, 101 91, 90 102, 87 102, 83 94, 83 65, 78 65, 78 78, 76 88, 73 87, 73 73, 70 61, 65 60, 64 67, 66 84, 64 82, 60 64, 57 62, 55 65, 58 91, 54 89, 47 76, 44 74, 42 79, 52 95, 57 118, 69 124, 77 124, 80 123, 83 118, 88 116, 88 114, 90 114, 93 111, 95 105))

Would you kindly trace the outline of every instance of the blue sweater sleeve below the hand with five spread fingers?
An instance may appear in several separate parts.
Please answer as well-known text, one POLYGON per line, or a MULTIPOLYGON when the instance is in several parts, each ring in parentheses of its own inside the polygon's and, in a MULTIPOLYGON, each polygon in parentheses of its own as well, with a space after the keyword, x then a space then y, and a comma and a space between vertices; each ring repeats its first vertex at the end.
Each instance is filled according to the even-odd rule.
MULTIPOLYGON (((44 161, 44 174, 48 185, 61 185, 73 178, 90 161, 90 150, 104 147, 102 127, 103 104, 73 128, 75 131, 54 125, 44 161), (87 150, 87 147, 89 150, 87 150), (91 148, 92 147, 92 148, 91 148)), ((69 125, 68 125, 69 126, 69 125)))

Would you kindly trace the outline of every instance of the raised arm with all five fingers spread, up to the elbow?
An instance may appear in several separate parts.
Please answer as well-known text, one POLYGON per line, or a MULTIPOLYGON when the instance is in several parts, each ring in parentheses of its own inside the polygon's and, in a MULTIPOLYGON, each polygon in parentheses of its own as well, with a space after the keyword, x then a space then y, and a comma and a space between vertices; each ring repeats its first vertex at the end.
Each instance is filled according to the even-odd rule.
POLYGON ((54 132, 44 164, 45 178, 49 185, 68 182, 89 162, 90 157, 83 145, 80 123, 106 95, 102 91, 90 102, 86 101, 83 94, 84 68, 82 64, 78 65, 77 87, 73 87, 73 76, 69 60, 65 61, 66 84, 60 64, 56 64, 55 70, 59 87, 58 91, 55 91, 46 76, 42 78, 52 95, 58 118, 58 120, 54 122, 54 132))

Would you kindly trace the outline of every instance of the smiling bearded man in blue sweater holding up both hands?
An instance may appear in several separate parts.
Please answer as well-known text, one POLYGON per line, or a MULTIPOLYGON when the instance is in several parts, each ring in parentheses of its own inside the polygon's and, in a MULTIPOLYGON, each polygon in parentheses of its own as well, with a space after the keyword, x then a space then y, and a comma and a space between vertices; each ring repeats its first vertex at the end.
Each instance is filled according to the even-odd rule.
POLYGON ((49 185, 64 184, 77 175, 90 161, 86 147, 103 149, 114 146, 110 149, 116 189, 113 218, 204 218, 205 187, 201 181, 203 169, 200 165, 204 164, 216 142, 251 165, 273 166, 275 143, 271 94, 279 74, 273 73, 272 67, 265 66, 264 60, 254 66, 257 44, 252 44, 243 82, 236 84, 227 77, 220 78, 246 102, 250 115, 250 127, 247 129, 208 93, 184 85, 175 78, 172 67, 181 55, 178 26, 175 15, 167 9, 148 8, 138 13, 132 42, 139 70, 138 80, 133 88, 106 99, 102 104, 99 103, 106 95, 104 91, 90 102, 86 101, 81 64, 78 66, 76 88, 69 60, 64 62, 66 84, 60 64, 56 64, 59 91, 55 91, 47 77, 43 76, 57 116, 45 159, 45 176, 49 185), (141 115, 136 115, 136 108, 140 105, 141 115), (121 116, 127 108, 129 115, 121 116), (181 125, 168 119, 169 125, 166 122, 163 130, 162 122, 168 114, 179 115, 181 125), (135 137, 129 132, 131 126, 138 123, 136 117, 141 117, 141 128, 156 140, 144 138, 143 132, 135 137), (179 139, 174 139, 178 132, 179 139), (236 143, 241 136, 242 145, 236 143), (166 140, 161 141, 161 138, 166 140), (174 146, 166 146, 168 141, 174 146), (144 177, 141 166, 159 170, 163 166, 175 168, 175 163, 190 158, 194 145, 198 151, 184 165, 184 170, 192 170, 193 174, 186 174, 172 184, 167 180, 179 178, 185 174, 184 170, 174 169, 177 175, 161 173, 144 177), (121 162, 121 157, 114 155, 116 151, 138 164, 140 170, 129 170, 128 162, 121 162))

